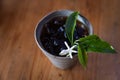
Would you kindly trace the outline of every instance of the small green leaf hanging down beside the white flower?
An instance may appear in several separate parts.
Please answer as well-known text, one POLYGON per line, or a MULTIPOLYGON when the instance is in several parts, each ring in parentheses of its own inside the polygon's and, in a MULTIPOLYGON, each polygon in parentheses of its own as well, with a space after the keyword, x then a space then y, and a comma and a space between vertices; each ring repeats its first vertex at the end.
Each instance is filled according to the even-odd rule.
POLYGON ((85 49, 83 49, 82 46, 80 46, 80 44, 79 44, 78 45, 78 59, 84 68, 86 68, 86 66, 87 66, 87 58, 88 58, 88 56, 87 56, 85 49))

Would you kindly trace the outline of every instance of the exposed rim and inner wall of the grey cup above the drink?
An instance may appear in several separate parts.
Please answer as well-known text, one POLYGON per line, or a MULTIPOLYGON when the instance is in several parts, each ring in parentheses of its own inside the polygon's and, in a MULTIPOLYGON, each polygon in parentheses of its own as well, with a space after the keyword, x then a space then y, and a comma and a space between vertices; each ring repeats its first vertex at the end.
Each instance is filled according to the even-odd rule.
MULTIPOLYGON (((46 15, 45 17, 43 17, 39 23, 37 24, 36 26, 36 29, 35 29, 35 40, 37 42, 37 45, 39 46, 39 48, 41 48, 43 51, 47 52, 42 43, 41 43, 41 40, 40 40, 40 36, 42 35, 41 32, 42 32, 42 29, 43 29, 43 25, 48 22, 49 20, 51 20, 52 18, 54 17, 57 17, 57 16, 69 16, 71 13, 73 13, 73 11, 70 11, 70 10, 60 10, 60 11, 54 11, 54 12, 51 12, 49 13, 48 15, 46 15)), ((82 22, 84 25, 86 25, 87 29, 88 29, 88 33, 89 35, 93 34, 93 28, 92 28, 92 25, 90 24, 90 22, 84 17, 82 16, 81 14, 79 14, 78 18, 77 18, 78 21, 82 22)), ((49 52, 47 52, 49 53, 49 52)), ((50 54, 52 55, 52 54, 50 54)), ((52 55, 54 56, 54 55, 52 55)))

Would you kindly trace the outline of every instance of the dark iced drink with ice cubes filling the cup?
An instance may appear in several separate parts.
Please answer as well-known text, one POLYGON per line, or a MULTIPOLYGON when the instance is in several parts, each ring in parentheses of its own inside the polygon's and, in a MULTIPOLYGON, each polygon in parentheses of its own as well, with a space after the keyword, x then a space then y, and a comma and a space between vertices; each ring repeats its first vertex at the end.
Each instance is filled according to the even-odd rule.
MULTIPOLYGON (((40 40, 44 49, 56 56, 60 56, 59 53, 63 49, 66 49, 64 41, 66 41, 69 46, 71 46, 65 33, 66 19, 67 17, 63 16, 52 18, 50 21, 46 22, 46 24, 43 25, 42 33, 40 36, 40 40)), ((83 23, 77 21, 74 32, 74 40, 87 35, 88 30, 86 26, 83 23)))

